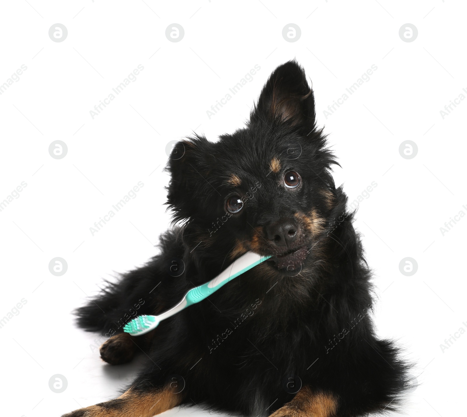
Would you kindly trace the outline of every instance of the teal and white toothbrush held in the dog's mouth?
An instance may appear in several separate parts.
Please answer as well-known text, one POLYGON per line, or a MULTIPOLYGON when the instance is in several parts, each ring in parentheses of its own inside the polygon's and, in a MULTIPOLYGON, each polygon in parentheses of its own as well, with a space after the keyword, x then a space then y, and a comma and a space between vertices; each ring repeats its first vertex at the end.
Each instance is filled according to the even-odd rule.
POLYGON ((144 315, 135 317, 133 320, 125 324, 123 331, 129 333, 131 336, 141 336, 151 330, 154 330, 162 320, 165 320, 166 318, 177 314, 179 311, 204 300, 230 280, 233 280, 242 273, 247 272, 249 269, 259 265, 270 257, 270 255, 261 256, 254 252, 245 253, 240 258, 233 261, 233 263, 224 269, 224 271, 219 273, 216 278, 198 287, 191 288, 191 290, 189 290, 171 309, 164 311, 158 316, 144 315))

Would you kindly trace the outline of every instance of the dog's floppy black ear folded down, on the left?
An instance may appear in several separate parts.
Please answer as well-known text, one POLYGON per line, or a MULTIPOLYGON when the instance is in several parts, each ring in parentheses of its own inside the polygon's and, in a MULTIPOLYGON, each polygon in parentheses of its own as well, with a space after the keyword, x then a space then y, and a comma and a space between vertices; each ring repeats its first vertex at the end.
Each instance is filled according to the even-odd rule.
POLYGON ((198 194, 206 196, 205 187, 209 186, 206 180, 215 166, 211 146, 205 137, 197 135, 177 142, 170 152, 166 166, 171 177, 166 187, 167 204, 174 211, 175 221, 189 218, 190 213, 196 210, 203 201, 198 194))

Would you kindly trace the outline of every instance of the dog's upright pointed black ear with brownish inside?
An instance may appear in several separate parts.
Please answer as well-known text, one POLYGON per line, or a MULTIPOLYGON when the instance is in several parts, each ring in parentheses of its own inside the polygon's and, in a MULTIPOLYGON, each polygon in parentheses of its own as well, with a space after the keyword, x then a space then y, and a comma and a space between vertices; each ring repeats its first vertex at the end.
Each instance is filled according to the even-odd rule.
MULTIPOLYGON (((264 85, 258 103, 251 112, 251 122, 264 119, 315 125, 315 98, 304 69, 296 61, 278 66, 264 85)), ((265 120, 264 120, 265 121, 265 120)))

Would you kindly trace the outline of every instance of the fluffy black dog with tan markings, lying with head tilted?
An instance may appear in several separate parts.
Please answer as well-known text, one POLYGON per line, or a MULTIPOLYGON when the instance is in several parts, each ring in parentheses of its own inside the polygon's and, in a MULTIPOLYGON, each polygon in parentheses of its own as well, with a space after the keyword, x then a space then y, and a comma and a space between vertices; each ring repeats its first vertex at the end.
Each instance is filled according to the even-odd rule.
POLYGON ((179 142, 167 204, 177 227, 162 252, 85 307, 102 359, 143 350, 147 366, 118 398, 67 417, 151 417, 180 404, 249 416, 361 416, 394 410, 407 365, 378 340, 371 273, 330 170, 304 70, 269 77, 244 129, 179 142), (122 326, 158 314, 241 254, 272 257, 147 335, 122 326))

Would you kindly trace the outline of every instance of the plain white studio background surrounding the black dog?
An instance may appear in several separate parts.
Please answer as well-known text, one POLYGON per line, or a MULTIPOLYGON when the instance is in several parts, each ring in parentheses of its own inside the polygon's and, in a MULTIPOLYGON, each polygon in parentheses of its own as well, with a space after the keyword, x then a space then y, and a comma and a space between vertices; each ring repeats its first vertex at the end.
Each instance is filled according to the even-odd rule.
MULTIPOLYGON (((467 334, 444 352, 440 344, 467 330, 467 217, 444 236, 440 227, 467 213, 467 101, 444 119, 440 110, 467 88, 466 12, 451 0, 3 2, 0 83, 27 70, 0 95, 0 200, 27 187, 0 212, 0 317, 27 303, 0 329, 2 414, 59 416, 131 381, 137 362, 104 364, 90 346, 96 335, 75 328, 71 310, 113 271, 156 253, 170 219, 168 142, 193 130, 215 141, 241 127, 270 72, 291 58, 313 81, 318 124, 342 165, 336 184, 353 201, 377 183, 355 226, 375 270, 378 335, 417 362, 421 385, 405 412, 465 413, 467 334), (165 36, 174 22, 185 31, 178 43, 165 36), (64 42, 51 41, 54 23, 68 29, 64 42), (297 42, 282 36, 289 23, 301 28, 297 42), (414 42, 398 35, 405 23, 418 29, 414 42), (92 119, 139 64, 136 81, 92 119), (206 110, 256 64, 254 79, 209 119, 206 110), (326 119, 323 110, 373 64, 370 80, 326 119), (398 151, 408 139, 418 146, 412 159, 398 151), (56 140, 68 146, 63 159, 48 152, 56 140), (138 181, 137 197, 92 236, 138 181), (68 263, 59 277, 48 268, 55 257, 68 263), (410 277, 399 271, 405 257, 418 264, 410 277), (49 388, 54 374, 68 381, 63 393, 49 388)), ((167 413, 193 412, 206 414, 167 413)))

